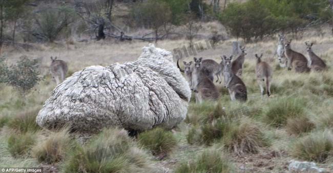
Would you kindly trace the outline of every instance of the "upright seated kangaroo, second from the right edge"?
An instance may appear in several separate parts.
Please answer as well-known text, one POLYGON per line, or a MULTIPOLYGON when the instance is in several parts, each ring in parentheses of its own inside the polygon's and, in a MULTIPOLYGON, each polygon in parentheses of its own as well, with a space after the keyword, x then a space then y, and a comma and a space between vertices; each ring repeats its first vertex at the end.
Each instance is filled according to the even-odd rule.
POLYGON ((310 72, 310 69, 307 67, 307 59, 301 53, 295 52, 290 48, 290 43, 292 39, 286 41, 284 44, 284 54, 287 57, 287 67, 288 70, 295 68, 297 73, 310 72))

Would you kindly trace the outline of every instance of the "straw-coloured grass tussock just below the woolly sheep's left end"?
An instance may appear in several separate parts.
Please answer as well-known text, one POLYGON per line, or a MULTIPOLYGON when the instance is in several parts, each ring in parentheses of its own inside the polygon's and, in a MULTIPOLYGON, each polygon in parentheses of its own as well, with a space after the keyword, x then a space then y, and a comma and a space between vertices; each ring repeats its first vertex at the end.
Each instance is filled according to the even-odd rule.
POLYGON ((73 148, 73 144, 68 129, 63 129, 51 132, 45 140, 32 148, 31 154, 38 162, 58 163, 64 160, 66 154, 73 148))

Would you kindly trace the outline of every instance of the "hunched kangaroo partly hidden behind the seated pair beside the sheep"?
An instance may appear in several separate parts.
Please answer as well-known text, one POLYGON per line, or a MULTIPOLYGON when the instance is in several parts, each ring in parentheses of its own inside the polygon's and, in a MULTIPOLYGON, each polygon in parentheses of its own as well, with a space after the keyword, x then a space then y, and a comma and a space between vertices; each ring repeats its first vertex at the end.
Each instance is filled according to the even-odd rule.
POLYGON ((216 82, 222 82, 222 66, 213 59, 204 59, 201 62, 201 70, 214 81, 214 75, 217 77, 216 82))

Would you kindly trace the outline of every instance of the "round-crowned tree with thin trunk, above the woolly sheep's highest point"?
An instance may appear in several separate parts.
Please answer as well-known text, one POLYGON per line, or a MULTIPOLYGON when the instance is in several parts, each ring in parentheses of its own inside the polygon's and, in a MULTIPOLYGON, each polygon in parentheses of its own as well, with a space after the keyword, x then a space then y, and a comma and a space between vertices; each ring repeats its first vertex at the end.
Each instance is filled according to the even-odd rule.
POLYGON ((160 29, 172 20, 172 12, 169 5, 154 0, 137 4, 133 8, 132 13, 140 25, 154 30, 155 42, 159 39, 158 33, 160 29))

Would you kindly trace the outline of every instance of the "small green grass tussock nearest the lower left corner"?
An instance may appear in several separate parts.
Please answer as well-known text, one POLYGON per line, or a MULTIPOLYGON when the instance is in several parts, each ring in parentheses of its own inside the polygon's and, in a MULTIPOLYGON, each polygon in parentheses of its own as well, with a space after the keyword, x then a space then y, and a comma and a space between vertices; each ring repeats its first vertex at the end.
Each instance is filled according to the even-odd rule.
POLYGON ((34 143, 33 133, 11 134, 7 141, 7 149, 13 157, 19 157, 28 154, 34 143))

